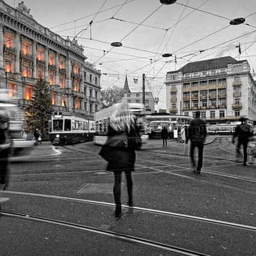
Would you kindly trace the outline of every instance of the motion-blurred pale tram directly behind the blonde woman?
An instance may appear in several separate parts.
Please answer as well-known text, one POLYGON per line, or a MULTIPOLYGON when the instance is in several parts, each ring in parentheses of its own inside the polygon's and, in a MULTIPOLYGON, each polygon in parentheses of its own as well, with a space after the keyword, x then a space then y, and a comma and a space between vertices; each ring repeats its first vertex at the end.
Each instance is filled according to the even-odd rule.
MULTIPOLYGON (((113 113, 115 113, 116 109, 120 107, 121 103, 116 103, 109 108, 102 109, 95 113, 95 136, 94 142, 95 145, 104 145, 108 137, 108 118, 113 113)), ((147 143, 148 135, 145 132, 145 109, 144 105, 141 103, 129 103, 128 104, 132 114, 136 116, 138 129, 140 131, 140 136, 142 140, 142 144, 147 143)))

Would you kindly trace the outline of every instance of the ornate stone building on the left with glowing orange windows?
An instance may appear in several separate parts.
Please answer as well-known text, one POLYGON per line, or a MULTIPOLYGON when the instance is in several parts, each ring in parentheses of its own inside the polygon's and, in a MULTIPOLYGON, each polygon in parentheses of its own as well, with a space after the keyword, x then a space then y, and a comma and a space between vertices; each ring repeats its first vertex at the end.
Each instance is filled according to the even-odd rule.
POLYGON ((100 70, 85 61, 83 46, 38 24, 23 1, 0 0, 0 88, 31 104, 38 79, 49 84, 54 111, 93 120, 100 109, 100 70))

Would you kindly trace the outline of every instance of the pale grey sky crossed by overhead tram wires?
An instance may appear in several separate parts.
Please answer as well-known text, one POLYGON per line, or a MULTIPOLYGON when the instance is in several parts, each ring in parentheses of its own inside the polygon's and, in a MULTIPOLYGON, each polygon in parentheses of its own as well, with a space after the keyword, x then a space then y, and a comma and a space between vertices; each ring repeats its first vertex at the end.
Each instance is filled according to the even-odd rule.
MULTIPOLYGON (((14 4, 17 6, 19 2, 6 0, 6 3, 12 6, 14 4)), ((155 95, 159 94, 161 99, 157 108, 165 108, 163 82, 166 72, 182 67, 190 58, 190 61, 228 55, 235 58, 238 54, 236 45, 239 41, 242 51, 240 60, 247 59, 256 71, 256 43, 253 44, 256 41, 256 14, 251 15, 256 12, 255 0, 177 0, 172 5, 161 5, 159 0, 24 0, 24 3, 31 9, 35 20, 64 37, 74 36, 81 29, 87 28, 79 33, 77 40, 85 47, 84 54, 88 57, 88 61, 95 63, 96 68, 102 70, 102 73, 109 74, 102 75, 102 88, 112 85, 123 86, 127 72, 131 90, 134 92, 141 90, 141 76, 145 73, 150 88, 154 90, 155 95), (118 4, 124 5, 112 8, 118 4), (201 10, 221 17, 198 10, 191 13, 193 9, 184 7, 182 4, 195 8, 202 5, 201 10), (104 11, 106 9, 109 10, 104 11), (99 10, 104 12, 97 13, 99 10), (186 17, 189 13, 191 14, 186 17), (245 23, 255 28, 244 24, 228 26, 230 19, 248 15, 250 17, 246 18, 245 23), (111 19, 113 16, 115 19, 111 19), (184 17, 185 19, 180 20, 184 17), (92 40, 90 40, 90 26, 88 26, 91 20, 93 20, 92 40), (180 22, 175 25, 178 20, 180 22), (67 22, 69 23, 64 24, 67 22), (138 26, 140 23, 146 26, 138 26), (221 30, 218 33, 204 38, 219 29, 221 30), (250 35, 199 53, 201 50, 254 30, 255 32, 250 35), (204 39, 200 40, 200 38, 204 39), (111 49, 108 43, 120 40, 124 47, 111 49), (196 43, 192 44, 193 42, 196 43), (104 51, 109 50, 111 51, 104 55, 104 51), (174 58, 161 58, 164 52, 173 53, 173 56, 177 54, 177 64, 174 61, 166 63, 174 58), (192 52, 194 55, 186 56, 192 52), (182 56, 186 56, 184 60, 180 59, 182 56), (144 66, 146 67, 143 68, 144 66), (134 77, 138 77, 138 84, 133 83, 134 77), (150 77, 156 78, 150 79, 150 77)))

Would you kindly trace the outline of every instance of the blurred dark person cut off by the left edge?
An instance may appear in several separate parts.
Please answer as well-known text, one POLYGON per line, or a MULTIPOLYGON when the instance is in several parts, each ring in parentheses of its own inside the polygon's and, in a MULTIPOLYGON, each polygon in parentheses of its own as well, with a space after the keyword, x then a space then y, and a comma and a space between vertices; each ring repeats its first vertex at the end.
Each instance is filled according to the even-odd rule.
POLYGON ((8 156, 10 152, 10 136, 8 132, 8 115, 4 111, 0 112, 0 190, 8 186, 8 156))

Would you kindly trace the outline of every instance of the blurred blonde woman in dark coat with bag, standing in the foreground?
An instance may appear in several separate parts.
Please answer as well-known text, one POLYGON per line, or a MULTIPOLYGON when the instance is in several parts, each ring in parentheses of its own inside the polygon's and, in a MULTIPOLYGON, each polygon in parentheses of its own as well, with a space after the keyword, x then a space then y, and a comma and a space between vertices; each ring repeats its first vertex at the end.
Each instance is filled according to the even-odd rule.
POLYGON ((128 105, 122 103, 109 118, 108 140, 100 150, 100 156, 108 161, 107 170, 114 174, 113 194, 115 200, 115 216, 122 216, 121 182, 125 172, 128 192, 128 205, 132 207, 132 172, 136 158, 135 149, 141 147, 141 138, 134 117, 128 105))

